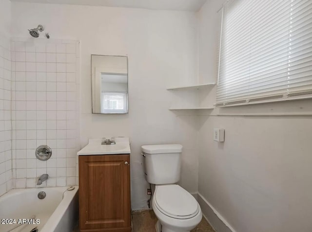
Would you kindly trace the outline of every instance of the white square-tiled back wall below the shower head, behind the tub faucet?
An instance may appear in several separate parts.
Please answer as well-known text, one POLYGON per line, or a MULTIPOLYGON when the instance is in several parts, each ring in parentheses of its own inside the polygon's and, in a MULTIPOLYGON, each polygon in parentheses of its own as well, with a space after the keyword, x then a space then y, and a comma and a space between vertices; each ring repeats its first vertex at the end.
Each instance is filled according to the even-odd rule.
POLYGON ((75 185, 78 136, 79 42, 12 39, 12 161, 16 188, 75 185), (35 150, 52 148, 48 161, 35 150))

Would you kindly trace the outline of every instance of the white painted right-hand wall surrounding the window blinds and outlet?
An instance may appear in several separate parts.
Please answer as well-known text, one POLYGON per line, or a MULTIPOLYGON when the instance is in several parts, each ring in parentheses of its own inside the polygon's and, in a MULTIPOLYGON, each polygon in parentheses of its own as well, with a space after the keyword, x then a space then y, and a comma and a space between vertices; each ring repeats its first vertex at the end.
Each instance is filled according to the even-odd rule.
MULTIPOLYGON (((216 81, 221 4, 207 1, 199 12, 201 80, 216 81)), ((311 100, 200 116, 198 191, 233 231, 312 231, 312 117, 295 114, 312 115, 311 100), (213 141, 213 128, 225 129, 224 143, 213 141)))

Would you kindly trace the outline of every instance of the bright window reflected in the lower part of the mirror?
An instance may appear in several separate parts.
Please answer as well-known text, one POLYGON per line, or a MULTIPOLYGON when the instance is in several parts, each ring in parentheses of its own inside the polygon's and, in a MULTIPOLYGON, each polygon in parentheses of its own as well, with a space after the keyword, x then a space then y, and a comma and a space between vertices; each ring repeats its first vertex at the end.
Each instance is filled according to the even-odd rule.
POLYGON ((127 113, 126 92, 102 92, 102 113, 127 113))

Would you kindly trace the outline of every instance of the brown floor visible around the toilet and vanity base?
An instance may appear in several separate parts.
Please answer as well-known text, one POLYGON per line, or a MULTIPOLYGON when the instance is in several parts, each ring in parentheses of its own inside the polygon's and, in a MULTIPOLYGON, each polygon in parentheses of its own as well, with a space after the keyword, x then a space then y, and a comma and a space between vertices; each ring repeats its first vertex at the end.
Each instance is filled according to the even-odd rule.
MULTIPOLYGON (((153 210, 133 213, 132 232, 156 232, 155 230, 156 221, 157 218, 153 210)), ((73 232, 79 232, 78 227, 76 227, 73 232)), ((199 225, 191 232, 215 232, 215 231, 203 217, 199 225)))

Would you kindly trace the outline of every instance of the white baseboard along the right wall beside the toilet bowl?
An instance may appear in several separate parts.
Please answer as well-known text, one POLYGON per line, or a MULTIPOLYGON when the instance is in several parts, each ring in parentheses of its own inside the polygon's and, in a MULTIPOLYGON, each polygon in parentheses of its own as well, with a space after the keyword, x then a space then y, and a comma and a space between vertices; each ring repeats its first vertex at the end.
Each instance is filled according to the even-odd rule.
POLYGON ((225 218, 219 214, 215 208, 205 199, 205 197, 203 197, 200 193, 197 193, 196 199, 200 205, 203 216, 214 228, 215 232, 236 232, 233 227, 225 220, 225 218))

